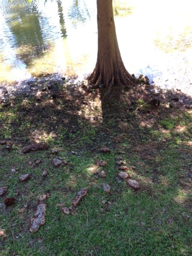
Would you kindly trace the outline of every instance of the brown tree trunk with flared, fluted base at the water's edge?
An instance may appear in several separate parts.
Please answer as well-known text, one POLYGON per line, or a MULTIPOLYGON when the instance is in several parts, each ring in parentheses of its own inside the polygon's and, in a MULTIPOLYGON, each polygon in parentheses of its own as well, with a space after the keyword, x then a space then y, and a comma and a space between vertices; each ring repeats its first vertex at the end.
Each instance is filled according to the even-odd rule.
POLYGON ((98 53, 93 73, 87 78, 91 88, 103 84, 107 90, 113 85, 128 86, 134 78, 126 70, 115 31, 112 0, 97 0, 98 53))

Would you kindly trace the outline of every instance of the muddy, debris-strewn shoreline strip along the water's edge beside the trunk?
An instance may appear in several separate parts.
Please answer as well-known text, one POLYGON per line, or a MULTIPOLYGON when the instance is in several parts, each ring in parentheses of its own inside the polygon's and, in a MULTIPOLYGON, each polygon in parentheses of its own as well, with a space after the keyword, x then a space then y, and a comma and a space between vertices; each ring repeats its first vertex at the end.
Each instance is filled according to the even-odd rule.
MULTIPOLYGON (((84 84, 86 84, 86 80, 80 81, 77 77, 67 77, 60 73, 44 75, 37 78, 32 77, 15 83, 3 82, 0 84, 0 100, 11 99, 16 96, 25 96, 26 98, 32 96, 41 97, 42 93, 44 96, 49 96, 53 93, 59 93, 62 87, 68 87, 68 89, 74 91, 84 84)), ((181 88, 172 88, 171 90, 164 89, 157 86, 153 81, 151 86, 153 86, 157 92, 170 91, 173 94, 181 92, 183 95, 186 94, 186 97, 191 96, 190 88, 188 88, 187 92, 185 88, 183 88, 183 90, 181 88)))

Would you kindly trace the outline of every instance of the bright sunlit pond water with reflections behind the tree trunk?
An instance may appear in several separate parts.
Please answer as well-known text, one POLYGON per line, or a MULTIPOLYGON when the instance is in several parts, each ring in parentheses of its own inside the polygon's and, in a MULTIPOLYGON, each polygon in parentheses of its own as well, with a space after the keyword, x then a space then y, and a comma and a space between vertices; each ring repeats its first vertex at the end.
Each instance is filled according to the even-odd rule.
MULTIPOLYGON (((191 94, 192 1, 115 0, 129 73, 191 94)), ((0 0, 0 81, 59 72, 83 79, 97 55, 96 0, 0 0)))

